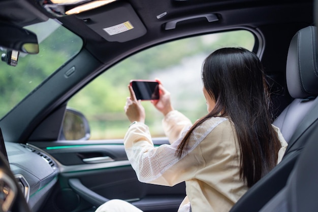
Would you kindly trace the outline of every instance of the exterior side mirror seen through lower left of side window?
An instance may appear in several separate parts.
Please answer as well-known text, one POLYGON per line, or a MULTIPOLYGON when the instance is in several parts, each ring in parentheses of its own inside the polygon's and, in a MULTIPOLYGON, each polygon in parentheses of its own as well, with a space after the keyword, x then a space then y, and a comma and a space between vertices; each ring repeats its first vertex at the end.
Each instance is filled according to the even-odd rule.
POLYGON ((59 140, 88 140, 90 129, 85 116, 74 110, 67 108, 59 140))

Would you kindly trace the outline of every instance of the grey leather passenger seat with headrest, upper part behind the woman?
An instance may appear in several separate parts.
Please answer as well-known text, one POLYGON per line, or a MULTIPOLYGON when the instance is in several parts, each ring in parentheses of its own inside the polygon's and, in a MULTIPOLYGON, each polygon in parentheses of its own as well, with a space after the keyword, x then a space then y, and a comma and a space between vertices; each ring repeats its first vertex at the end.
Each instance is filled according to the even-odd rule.
POLYGON ((295 129, 317 101, 318 67, 315 26, 299 30, 293 37, 286 64, 287 88, 294 101, 277 117, 277 126, 289 143, 295 129))

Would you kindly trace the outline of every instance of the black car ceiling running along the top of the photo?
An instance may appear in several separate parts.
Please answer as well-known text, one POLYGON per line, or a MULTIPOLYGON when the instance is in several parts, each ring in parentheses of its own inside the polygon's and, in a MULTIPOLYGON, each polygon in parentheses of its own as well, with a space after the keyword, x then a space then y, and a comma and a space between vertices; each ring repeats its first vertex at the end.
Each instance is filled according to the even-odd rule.
MULTIPOLYGON (((56 18, 41 8, 37 2, 35 0, 1 1, 0 20, 25 26, 45 21, 48 17, 56 18)), ((301 23, 312 20, 312 14, 308 13, 308 9, 312 8, 312 1, 309 0, 160 0, 150 3, 149 0, 120 0, 79 15, 60 17, 58 20, 82 37, 85 48, 105 64, 117 61, 144 47, 178 37, 227 30, 238 26, 257 29, 259 26, 272 23, 301 23), (120 10, 127 7, 131 7, 132 10, 120 10), (112 13, 112 10, 115 10, 115 13, 112 13), (165 16, 157 18, 165 12, 167 13, 165 16), (204 17, 191 18, 200 14, 214 14, 218 20, 208 22, 204 17), (118 24, 120 23, 118 21, 126 20, 125 17, 138 19, 141 22, 140 26, 144 26, 145 33, 140 33, 137 37, 136 34, 125 33, 125 38, 119 42, 107 41, 97 30, 91 28, 91 23, 102 28, 118 24), (168 22, 177 19, 187 20, 178 22, 174 29, 165 29, 168 22)))

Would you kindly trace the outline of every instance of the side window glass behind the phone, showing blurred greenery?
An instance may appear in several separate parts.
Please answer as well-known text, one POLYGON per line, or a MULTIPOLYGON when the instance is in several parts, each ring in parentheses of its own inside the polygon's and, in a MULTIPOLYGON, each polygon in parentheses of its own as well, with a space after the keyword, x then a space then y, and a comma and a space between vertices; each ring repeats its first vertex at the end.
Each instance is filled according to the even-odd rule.
MULTIPOLYGON (((252 50, 255 37, 247 30, 206 34, 161 44, 137 53, 108 69, 68 102, 68 107, 82 112, 90 126, 90 139, 123 138, 130 122, 123 107, 133 79, 158 78, 171 93, 174 109, 193 122, 207 114, 202 93, 201 66, 214 50, 244 47, 252 50)), ((163 115, 150 101, 142 101, 146 124, 153 137, 164 136, 163 115)))

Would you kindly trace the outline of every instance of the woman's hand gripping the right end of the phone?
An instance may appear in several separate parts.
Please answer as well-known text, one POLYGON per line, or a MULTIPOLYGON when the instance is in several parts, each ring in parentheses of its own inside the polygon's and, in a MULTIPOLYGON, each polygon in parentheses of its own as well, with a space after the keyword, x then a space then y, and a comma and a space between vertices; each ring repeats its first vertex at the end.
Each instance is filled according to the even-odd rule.
POLYGON ((170 92, 164 88, 159 80, 157 81, 159 83, 160 97, 158 100, 151 100, 151 103, 158 111, 162 112, 164 116, 166 116, 170 111, 174 110, 170 101, 170 92))

